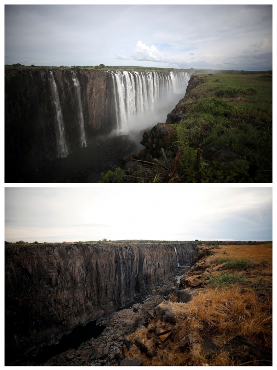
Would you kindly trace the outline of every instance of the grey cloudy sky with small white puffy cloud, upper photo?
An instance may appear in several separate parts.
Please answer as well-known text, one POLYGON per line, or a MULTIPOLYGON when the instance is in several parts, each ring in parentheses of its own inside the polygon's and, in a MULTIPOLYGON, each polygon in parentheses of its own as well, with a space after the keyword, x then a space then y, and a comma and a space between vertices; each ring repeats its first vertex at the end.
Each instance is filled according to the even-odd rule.
POLYGON ((5 64, 272 69, 271 5, 6 5, 5 64))

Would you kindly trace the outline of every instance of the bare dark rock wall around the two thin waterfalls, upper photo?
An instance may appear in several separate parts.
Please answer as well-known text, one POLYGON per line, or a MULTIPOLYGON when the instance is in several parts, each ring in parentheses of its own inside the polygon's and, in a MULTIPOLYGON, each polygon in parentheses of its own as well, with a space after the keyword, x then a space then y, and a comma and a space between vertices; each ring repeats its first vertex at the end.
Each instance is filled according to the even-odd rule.
MULTIPOLYGON (((71 70, 52 69, 69 151, 81 146, 78 99, 71 70)), ((15 170, 39 168, 57 158, 53 92, 48 69, 5 70, 5 158, 15 170)), ((75 70, 81 87, 86 139, 115 127, 110 73, 75 70)))

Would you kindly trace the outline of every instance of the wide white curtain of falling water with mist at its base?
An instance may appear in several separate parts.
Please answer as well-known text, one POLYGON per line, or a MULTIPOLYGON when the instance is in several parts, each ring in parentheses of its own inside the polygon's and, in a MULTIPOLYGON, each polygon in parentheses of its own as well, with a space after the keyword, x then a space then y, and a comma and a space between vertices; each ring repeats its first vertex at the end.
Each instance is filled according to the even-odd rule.
POLYGON ((151 115, 152 119, 164 120, 183 98, 190 78, 187 72, 172 71, 169 75, 154 71, 112 71, 111 74, 117 132, 150 127, 151 115))

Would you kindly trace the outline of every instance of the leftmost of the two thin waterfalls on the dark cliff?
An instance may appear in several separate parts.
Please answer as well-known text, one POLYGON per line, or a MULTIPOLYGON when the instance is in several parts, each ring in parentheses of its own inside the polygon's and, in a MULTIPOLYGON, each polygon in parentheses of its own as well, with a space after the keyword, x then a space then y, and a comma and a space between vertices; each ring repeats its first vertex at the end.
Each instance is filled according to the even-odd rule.
MULTIPOLYGON (((63 121, 63 114, 60 104, 60 98, 58 97, 57 85, 54 79, 54 74, 52 71, 49 71, 50 74, 50 84, 53 93, 53 102, 56 109, 55 121, 56 121, 56 141, 57 141, 57 151, 58 151, 58 158, 66 157, 69 153, 67 149, 67 144, 65 140, 65 127, 63 121)), ((33 76, 32 76, 33 77, 33 76)))

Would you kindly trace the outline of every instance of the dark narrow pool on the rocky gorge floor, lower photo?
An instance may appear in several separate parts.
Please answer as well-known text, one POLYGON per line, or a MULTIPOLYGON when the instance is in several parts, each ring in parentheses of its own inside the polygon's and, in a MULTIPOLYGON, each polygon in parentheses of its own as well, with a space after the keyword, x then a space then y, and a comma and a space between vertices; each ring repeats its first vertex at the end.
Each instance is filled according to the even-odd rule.
POLYGON ((39 349, 36 356, 25 357, 23 361, 34 361, 37 364, 45 363, 50 358, 66 352, 70 348, 77 349, 80 344, 86 342, 90 338, 97 338, 104 329, 105 326, 96 325, 96 320, 87 323, 85 326, 77 326, 71 333, 64 335, 57 344, 44 345, 39 349))

